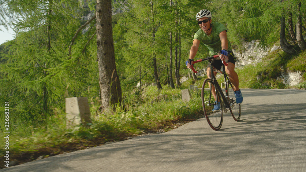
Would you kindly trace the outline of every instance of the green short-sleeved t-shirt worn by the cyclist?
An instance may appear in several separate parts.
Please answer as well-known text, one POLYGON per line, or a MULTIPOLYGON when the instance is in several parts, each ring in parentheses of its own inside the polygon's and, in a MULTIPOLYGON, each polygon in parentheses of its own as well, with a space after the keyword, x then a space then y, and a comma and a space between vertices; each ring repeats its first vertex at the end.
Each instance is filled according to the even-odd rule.
MULTIPOLYGON (((193 40, 200 40, 209 49, 209 54, 211 56, 217 55, 219 50, 222 49, 221 40, 219 34, 222 31, 227 31, 226 27, 221 23, 211 23, 211 34, 207 36, 205 32, 200 28, 196 34, 194 34, 193 40)), ((232 45, 229 42, 228 51, 232 50, 232 45)))

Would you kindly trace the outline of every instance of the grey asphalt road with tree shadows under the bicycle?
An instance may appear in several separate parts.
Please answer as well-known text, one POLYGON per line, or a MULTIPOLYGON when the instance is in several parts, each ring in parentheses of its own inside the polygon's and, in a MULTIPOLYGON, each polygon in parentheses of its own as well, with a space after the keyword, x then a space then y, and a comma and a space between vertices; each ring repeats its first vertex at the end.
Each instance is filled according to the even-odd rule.
POLYGON ((219 131, 202 118, 166 133, 2 170, 306 171, 306 90, 241 90, 241 120, 227 113, 219 131))

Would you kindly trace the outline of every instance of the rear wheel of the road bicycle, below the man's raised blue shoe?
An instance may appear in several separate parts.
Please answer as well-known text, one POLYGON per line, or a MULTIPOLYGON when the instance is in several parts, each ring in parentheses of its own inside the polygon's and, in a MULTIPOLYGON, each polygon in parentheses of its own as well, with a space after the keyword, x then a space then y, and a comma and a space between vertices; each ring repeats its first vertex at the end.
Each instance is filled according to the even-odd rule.
POLYGON ((241 106, 236 103, 234 88, 230 82, 227 84, 226 94, 227 102, 230 104, 230 113, 235 121, 239 121, 241 116, 241 106))

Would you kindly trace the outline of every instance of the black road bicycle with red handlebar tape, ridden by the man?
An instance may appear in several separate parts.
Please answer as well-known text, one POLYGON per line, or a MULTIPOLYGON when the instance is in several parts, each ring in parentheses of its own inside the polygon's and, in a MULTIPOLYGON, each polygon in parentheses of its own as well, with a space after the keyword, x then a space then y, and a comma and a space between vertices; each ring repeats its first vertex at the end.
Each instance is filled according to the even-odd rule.
MULTIPOLYGON (((211 76, 209 76, 209 78, 205 79, 203 82, 202 90, 201 90, 201 99, 202 99, 203 111, 207 119, 207 122, 209 126, 211 126, 211 128, 216 131, 219 130, 222 126, 223 112, 226 113, 230 111, 235 121, 239 121, 240 116, 241 116, 240 104, 236 103, 236 97, 235 97, 233 85, 230 82, 230 79, 225 72, 224 66, 227 66, 227 63, 223 61, 223 64, 222 64, 223 70, 222 69, 217 70, 213 67, 212 63, 210 62, 211 59, 218 58, 218 57, 219 55, 215 55, 215 56, 193 61, 193 64, 201 62, 201 61, 207 61, 208 67, 210 68, 211 76), (224 75, 225 95, 222 91, 222 88, 219 86, 217 79, 214 76, 214 71, 224 75), (217 95, 216 102, 220 102, 220 105, 221 105, 221 109, 219 112, 212 112, 214 105, 217 104, 215 102, 215 98, 212 96, 212 93, 211 93, 212 89, 215 89, 215 92, 217 95), (205 97, 209 97, 209 98, 207 99, 205 97)), ((193 65, 191 66, 191 68, 194 73, 197 73, 197 71, 193 68, 193 65)))

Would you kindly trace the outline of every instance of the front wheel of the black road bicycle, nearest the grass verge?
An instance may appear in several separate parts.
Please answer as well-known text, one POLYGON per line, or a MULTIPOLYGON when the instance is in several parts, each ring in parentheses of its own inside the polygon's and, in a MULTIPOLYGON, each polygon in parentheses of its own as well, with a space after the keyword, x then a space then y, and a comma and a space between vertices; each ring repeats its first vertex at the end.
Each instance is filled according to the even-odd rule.
MULTIPOLYGON (((202 98, 202 107, 207 119, 209 126, 213 130, 219 130, 222 126, 223 122, 223 102, 220 99, 221 109, 219 112, 212 112, 212 109, 215 105, 215 98, 213 97, 211 90, 212 88, 209 85, 214 85, 211 79, 207 78, 203 82, 202 90, 201 90, 201 98, 202 98)), ((216 90, 216 94, 220 97, 220 93, 216 90)))

